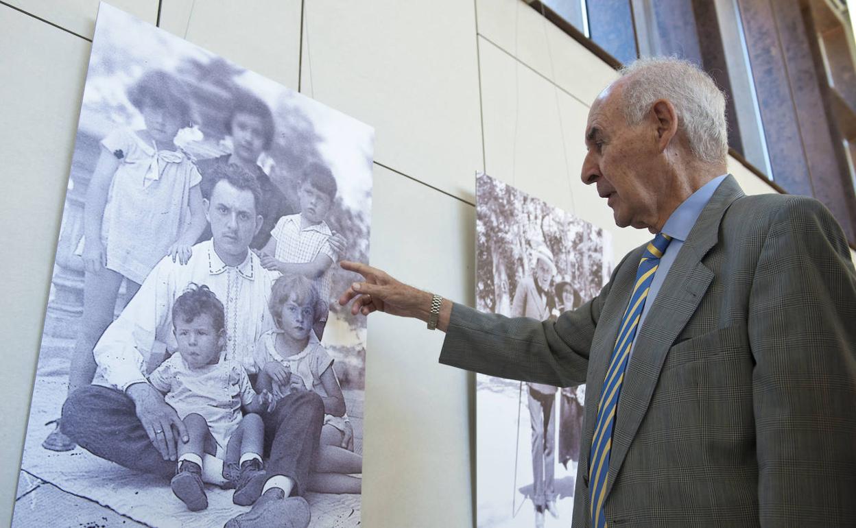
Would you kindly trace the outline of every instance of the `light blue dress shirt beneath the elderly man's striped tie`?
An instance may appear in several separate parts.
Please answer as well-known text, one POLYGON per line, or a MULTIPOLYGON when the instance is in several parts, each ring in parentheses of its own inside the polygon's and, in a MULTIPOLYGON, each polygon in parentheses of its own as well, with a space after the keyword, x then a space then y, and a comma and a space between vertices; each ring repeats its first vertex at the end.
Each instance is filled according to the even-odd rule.
MULTIPOLYGON (((710 201, 710 197, 713 196, 716 188, 719 187, 719 184, 722 183, 722 180, 726 176, 717 176, 705 183, 698 191, 685 199, 681 205, 678 205, 678 208, 675 209, 675 212, 672 213, 672 216, 663 225, 662 233, 672 237, 672 241, 669 242, 669 247, 663 253, 663 258, 660 258, 660 265, 654 274, 654 279, 651 281, 648 298, 645 299, 642 315, 639 316, 639 329, 636 335, 639 335, 639 331, 641 331, 642 325, 645 323, 645 316, 648 315, 648 310, 654 304, 654 300, 657 299, 657 294, 660 293, 660 288, 663 287, 663 282, 665 282, 666 276, 669 274, 669 268, 675 263, 675 258, 678 256, 678 252, 681 251, 684 240, 687 240, 687 236, 693 229, 696 220, 698 220, 698 215, 701 214, 704 206, 710 201)), ((630 357, 633 357, 634 348, 636 348, 636 340, 633 340, 633 345, 630 347, 630 357)))

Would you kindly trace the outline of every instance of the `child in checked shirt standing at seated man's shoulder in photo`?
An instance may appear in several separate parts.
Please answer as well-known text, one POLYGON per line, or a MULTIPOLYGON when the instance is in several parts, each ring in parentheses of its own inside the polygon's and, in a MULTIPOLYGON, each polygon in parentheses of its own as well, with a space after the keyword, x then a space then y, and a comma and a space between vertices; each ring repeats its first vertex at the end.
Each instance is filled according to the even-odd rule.
MULTIPOLYGON (((336 200, 336 178, 321 163, 310 163, 303 171, 298 195, 300 213, 282 217, 270 232, 260 255, 267 270, 282 275, 301 275, 312 281, 324 306, 330 302, 330 266, 338 260, 345 242, 325 222, 336 200)), ((312 326, 318 340, 324 334, 327 311, 312 326)))

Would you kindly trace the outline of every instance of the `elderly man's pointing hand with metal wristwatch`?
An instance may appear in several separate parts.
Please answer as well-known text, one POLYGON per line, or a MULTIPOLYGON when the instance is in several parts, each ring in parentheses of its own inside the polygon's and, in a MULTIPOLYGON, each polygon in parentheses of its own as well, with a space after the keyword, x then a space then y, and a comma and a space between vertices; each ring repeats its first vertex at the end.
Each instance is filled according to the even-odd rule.
MULTIPOLYGON (((369 315, 373 311, 385 311, 400 317, 415 317, 428 321, 431 315, 431 294, 403 282, 396 281, 382 270, 368 264, 348 262, 339 263, 343 270, 355 271, 366 278, 365 282, 354 282, 339 298, 339 304, 345 306, 351 300, 351 314, 369 315)), ((440 319, 437 328, 445 330, 449 326, 452 303, 444 299, 440 306, 440 319)))

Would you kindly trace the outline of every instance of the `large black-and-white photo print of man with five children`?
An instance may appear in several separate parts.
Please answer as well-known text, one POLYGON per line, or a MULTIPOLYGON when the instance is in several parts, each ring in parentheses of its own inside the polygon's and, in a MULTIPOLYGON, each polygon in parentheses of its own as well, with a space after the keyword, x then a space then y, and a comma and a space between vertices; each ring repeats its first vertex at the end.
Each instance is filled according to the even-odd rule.
MULTIPOLYGON (((368 262, 373 138, 101 3, 19 497, 360 525, 366 317, 336 300, 339 261, 368 262)), ((31 506, 14 526, 62 515, 31 506)))

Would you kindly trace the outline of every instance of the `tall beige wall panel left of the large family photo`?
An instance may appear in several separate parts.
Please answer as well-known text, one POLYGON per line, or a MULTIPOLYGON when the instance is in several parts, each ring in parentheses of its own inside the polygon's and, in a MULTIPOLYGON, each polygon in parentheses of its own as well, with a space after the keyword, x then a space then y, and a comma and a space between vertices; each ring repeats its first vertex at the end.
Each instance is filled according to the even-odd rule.
MULTIPOLYGON (((0 6, 3 406, 0 525, 9 525, 90 44, 0 6)), ((47 432, 48 429, 45 429, 47 432)))

